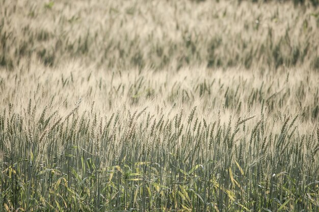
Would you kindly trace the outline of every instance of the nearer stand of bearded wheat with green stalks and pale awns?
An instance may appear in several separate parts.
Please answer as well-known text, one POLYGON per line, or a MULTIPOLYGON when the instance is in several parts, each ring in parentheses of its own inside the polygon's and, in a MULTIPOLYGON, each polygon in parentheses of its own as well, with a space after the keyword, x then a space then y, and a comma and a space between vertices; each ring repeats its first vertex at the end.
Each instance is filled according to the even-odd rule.
POLYGON ((3 210, 318 211, 317 73, 32 64, 2 72, 3 210))

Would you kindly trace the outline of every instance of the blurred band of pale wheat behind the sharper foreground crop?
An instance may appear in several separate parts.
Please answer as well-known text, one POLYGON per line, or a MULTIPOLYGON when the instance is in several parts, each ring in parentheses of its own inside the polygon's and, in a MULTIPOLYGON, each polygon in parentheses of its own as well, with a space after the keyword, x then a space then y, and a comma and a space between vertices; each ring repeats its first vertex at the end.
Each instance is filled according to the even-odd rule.
POLYGON ((0 65, 319 69, 315 1, 2 0, 0 65))

